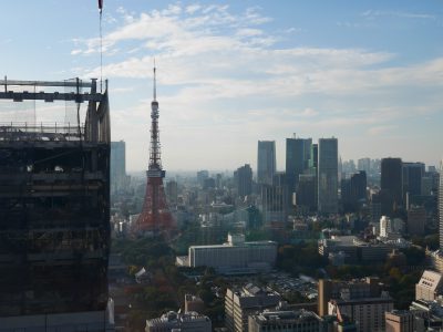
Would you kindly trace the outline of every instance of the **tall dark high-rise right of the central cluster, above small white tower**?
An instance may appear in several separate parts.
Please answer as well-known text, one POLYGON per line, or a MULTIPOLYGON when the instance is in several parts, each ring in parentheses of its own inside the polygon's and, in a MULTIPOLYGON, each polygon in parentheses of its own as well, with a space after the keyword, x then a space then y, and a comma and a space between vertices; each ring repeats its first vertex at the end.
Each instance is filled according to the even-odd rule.
POLYGON ((381 160, 381 212, 390 216, 403 205, 403 173, 401 158, 381 160))

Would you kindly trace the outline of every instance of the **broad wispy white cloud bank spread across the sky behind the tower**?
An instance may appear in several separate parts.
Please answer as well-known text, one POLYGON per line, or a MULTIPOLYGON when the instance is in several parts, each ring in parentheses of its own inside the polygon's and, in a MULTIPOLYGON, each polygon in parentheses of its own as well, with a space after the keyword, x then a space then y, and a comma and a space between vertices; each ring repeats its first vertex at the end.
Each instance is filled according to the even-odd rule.
MULTIPOLYGON (((293 42, 281 48, 278 42, 288 35, 265 29, 271 19, 259 8, 234 14, 227 6, 177 2, 163 11, 119 13, 123 23, 104 35, 103 49, 105 54, 121 51, 119 58, 109 56, 103 75, 151 79, 156 58, 166 165, 194 167, 195 160, 179 158, 187 151, 183 137, 186 146, 195 144, 196 155, 223 151, 226 144, 245 152, 240 147, 255 151, 257 139, 284 139, 292 132, 323 136, 357 129, 359 137, 382 135, 394 129, 399 118, 443 110, 435 94, 413 101, 402 94, 416 85, 442 86, 443 58, 393 66, 399 55, 384 51, 293 42)), ((293 29, 288 32, 298 31, 293 29)), ((95 53, 100 45, 97 39, 78 39, 74 44, 73 55, 95 53)), ((99 76, 100 69, 83 73, 99 76)), ((143 91, 145 97, 150 92, 143 91)), ((113 110, 113 138, 133 146, 137 162, 132 168, 145 165, 140 156, 147 149, 148 110, 148 101, 113 110)), ((230 152, 238 154, 234 160, 254 160, 254 152, 230 152)))

